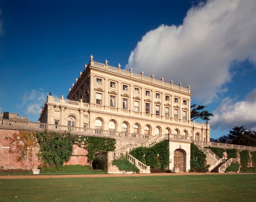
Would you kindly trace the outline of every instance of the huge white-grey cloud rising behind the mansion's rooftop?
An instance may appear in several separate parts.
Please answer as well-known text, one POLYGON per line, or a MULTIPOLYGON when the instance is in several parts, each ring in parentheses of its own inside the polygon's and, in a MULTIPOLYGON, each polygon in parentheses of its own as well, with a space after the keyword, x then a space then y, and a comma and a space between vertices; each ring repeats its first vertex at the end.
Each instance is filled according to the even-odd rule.
POLYGON ((232 80, 232 63, 256 64, 255 11, 251 0, 209 0, 192 7, 182 25, 161 25, 145 34, 125 69, 190 85, 193 99, 210 103, 227 91, 223 85, 232 80))

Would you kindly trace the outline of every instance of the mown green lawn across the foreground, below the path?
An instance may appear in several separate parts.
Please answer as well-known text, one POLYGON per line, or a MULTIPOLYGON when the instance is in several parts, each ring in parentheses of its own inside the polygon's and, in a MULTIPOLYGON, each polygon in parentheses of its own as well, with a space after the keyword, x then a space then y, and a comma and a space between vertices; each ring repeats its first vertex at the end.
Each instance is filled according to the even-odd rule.
POLYGON ((255 201, 256 175, 1 179, 1 201, 255 201))

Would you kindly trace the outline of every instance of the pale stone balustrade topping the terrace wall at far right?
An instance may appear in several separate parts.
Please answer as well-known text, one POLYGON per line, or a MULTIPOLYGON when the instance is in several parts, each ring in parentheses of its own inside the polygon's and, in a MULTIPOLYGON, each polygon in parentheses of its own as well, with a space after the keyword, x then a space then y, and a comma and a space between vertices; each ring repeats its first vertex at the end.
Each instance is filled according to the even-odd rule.
POLYGON ((205 142, 205 141, 194 141, 194 143, 195 142, 201 147, 212 146, 212 147, 219 147, 219 148, 225 148, 225 149, 236 148, 238 150, 256 151, 256 147, 254 146, 232 145, 232 144, 226 144, 226 143, 205 142))

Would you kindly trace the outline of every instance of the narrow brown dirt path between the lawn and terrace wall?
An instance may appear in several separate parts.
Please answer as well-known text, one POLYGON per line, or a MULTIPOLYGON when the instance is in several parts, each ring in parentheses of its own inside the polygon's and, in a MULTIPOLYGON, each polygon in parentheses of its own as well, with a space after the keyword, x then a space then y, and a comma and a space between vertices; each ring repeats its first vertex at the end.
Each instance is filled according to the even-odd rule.
MULTIPOLYGON (((44 178, 71 178, 71 177, 140 177, 140 176, 177 176, 177 175, 246 175, 253 173, 148 173, 148 174, 100 174, 100 175, 20 175, 0 176, 0 179, 44 179, 44 178)), ((256 173, 255 173, 256 174, 256 173)))

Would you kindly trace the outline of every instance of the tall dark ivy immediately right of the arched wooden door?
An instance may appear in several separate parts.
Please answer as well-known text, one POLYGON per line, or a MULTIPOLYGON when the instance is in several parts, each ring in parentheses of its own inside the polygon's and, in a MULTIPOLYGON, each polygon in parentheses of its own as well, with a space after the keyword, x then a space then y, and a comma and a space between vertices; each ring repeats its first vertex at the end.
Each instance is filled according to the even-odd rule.
POLYGON ((206 154, 194 143, 190 145, 190 172, 208 171, 210 165, 205 166, 206 154))

